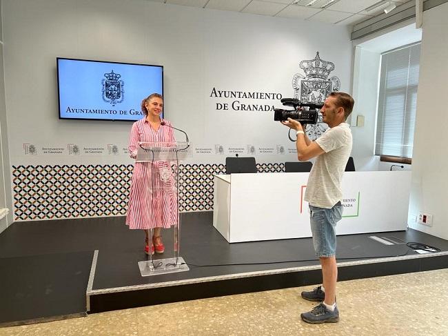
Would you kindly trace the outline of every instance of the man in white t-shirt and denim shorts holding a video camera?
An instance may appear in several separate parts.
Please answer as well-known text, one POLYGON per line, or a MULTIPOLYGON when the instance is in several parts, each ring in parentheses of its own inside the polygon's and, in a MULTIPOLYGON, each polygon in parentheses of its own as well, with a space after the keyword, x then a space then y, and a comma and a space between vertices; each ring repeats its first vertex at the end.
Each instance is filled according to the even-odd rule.
POLYGON ((288 118, 283 125, 296 130, 297 157, 307 161, 316 157, 309 172, 305 201, 309 203, 309 221, 316 255, 322 266, 323 286, 302 297, 309 301, 321 302, 307 313, 301 314, 303 321, 320 324, 338 322, 336 307, 336 223, 343 213, 341 180, 345 165, 352 152, 352 132, 345 121, 353 110, 354 99, 344 92, 332 92, 320 110, 323 122, 329 128, 316 141, 310 141, 303 132, 300 122, 288 118))

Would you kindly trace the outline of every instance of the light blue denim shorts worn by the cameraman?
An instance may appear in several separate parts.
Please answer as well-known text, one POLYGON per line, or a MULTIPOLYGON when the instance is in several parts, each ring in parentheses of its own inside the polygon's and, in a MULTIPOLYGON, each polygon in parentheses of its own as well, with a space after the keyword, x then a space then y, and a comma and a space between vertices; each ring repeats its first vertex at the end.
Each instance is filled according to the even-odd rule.
POLYGON ((336 224, 343 216, 340 201, 331 209, 309 205, 309 222, 317 257, 336 255, 336 224))

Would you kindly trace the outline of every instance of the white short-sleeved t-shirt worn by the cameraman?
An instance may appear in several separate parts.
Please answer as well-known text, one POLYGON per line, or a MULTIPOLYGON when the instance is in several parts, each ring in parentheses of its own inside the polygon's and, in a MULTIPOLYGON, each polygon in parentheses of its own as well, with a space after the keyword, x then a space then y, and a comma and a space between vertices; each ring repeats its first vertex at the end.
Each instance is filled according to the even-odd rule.
POLYGON ((312 206, 329 209, 343 198, 340 186, 343 172, 352 152, 352 131, 348 123, 340 123, 316 139, 324 153, 318 155, 309 172, 305 201, 312 206))

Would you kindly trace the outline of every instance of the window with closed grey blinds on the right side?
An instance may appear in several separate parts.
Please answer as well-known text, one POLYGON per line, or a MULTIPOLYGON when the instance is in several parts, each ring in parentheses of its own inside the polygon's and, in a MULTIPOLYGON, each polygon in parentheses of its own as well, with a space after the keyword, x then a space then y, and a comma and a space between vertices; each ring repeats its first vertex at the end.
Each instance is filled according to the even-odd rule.
POLYGON ((411 158, 420 43, 381 55, 375 155, 411 158))

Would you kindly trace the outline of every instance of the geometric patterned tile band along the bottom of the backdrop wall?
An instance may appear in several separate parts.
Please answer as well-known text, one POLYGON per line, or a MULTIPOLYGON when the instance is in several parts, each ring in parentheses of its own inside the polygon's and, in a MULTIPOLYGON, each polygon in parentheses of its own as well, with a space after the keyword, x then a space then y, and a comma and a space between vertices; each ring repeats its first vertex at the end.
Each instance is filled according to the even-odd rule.
MULTIPOLYGON (((283 163, 257 168, 285 171, 283 163)), ((132 165, 12 166, 14 220, 125 215, 132 169, 132 165)), ((224 164, 181 165, 181 212, 213 210, 213 175, 224 173, 224 164)))

